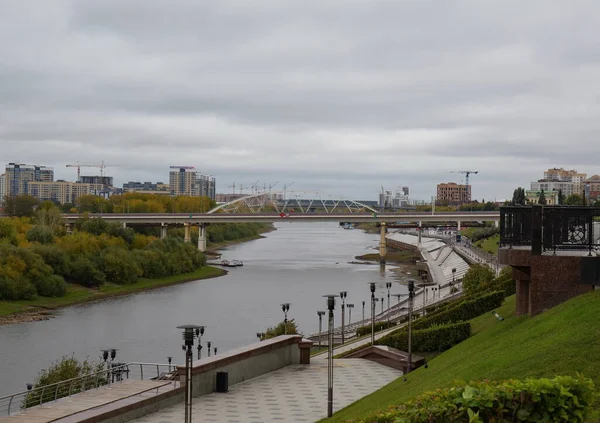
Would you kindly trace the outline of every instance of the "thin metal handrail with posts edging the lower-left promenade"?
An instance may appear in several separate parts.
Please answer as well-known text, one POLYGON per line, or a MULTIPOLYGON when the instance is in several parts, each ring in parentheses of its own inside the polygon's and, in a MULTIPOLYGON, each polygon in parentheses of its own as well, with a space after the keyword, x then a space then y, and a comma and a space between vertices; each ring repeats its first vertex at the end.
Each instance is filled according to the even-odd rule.
MULTIPOLYGON (((11 411, 22 410, 36 405, 41 405, 46 402, 56 401, 60 398, 70 397, 73 394, 85 392, 91 389, 97 389, 100 386, 110 385, 112 383, 122 382, 125 378, 129 379, 133 369, 139 366, 140 380, 144 380, 144 367, 156 367, 156 376, 152 375, 149 379, 159 378, 160 368, 167 367, 169 372, 176 371, 177 364, 163 363, 106 363, 106 368, 102 370, 87 373, 75 378, 66 379, 60 382, 55 382, 49 385, 37 387, 35 389, 21 391, 10 395, 0 397, 0 407, 3 403, 8 402, 6 409, 0 408, 0 415, 11 415, 11 411), (68 386, 68 390, 66 389, 68 386), (39 395, 39 399, 38 399, 39 395), (15 401, 17 397, 21 397, 20 401, 15 401), (15 405, 18 402, 18 408, 15 405), (14 409, 14 410, 13 410, 14 409)), ((104 367, 104 366, 103 366, 104 367)), ((153 372, 152 372, 153 373, 153 372)))

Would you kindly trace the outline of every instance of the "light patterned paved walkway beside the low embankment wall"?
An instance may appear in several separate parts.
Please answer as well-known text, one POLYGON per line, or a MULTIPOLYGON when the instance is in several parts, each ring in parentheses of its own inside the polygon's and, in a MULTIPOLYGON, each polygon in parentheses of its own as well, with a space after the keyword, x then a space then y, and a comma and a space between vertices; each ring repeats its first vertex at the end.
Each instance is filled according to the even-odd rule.
MULTIPOLYGON (((334 362, 334 411, 394 381, 402 372, 372 361, 334 362)), ((193 400, 194 421, 211 423, 316 422, 327 417, 327 361, 284 367, 264 376, 193 400)), ((179 423, 183 404, 134 420, 137 423, 179 423)))

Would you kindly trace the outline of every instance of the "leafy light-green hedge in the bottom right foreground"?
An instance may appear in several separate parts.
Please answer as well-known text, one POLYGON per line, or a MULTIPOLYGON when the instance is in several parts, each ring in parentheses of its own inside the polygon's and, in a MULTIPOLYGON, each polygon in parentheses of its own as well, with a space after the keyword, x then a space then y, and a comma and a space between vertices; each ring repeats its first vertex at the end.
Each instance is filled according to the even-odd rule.
POLYGON ((372 415, 362 423, 584 422, 594 383, 583 376, 457 382, 372 415))

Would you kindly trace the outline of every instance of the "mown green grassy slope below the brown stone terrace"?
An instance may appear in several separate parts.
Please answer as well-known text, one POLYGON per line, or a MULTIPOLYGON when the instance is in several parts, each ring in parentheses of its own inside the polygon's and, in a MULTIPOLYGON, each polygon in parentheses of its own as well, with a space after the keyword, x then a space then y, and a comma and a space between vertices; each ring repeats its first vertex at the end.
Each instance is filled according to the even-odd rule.
POLYGON ((581 295, 533 318, 515 316, 515 297, 497 311, 472 321, 474 335, 376 393, 336 413, 327 422, 341 422, 401 403, 417 394, 447 387, 452 381, 552 377, 576 372, 600 386, 600 291, 581 295))

